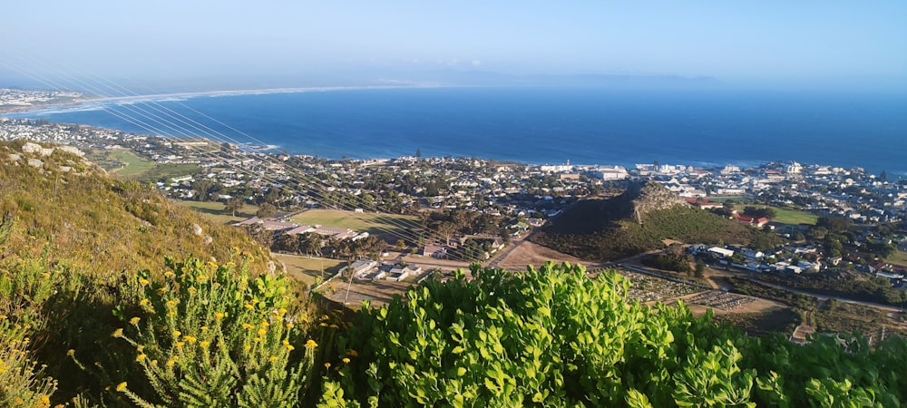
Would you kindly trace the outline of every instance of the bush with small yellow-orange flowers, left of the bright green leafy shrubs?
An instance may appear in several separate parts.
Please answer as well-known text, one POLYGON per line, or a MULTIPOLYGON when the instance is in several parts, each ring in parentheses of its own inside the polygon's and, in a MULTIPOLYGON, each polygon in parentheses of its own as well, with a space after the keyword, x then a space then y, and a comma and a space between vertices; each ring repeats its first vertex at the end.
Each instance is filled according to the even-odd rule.
POLYGON ((288 311, 288 278, 250 277, 232 262, 167 265, 162 279, 137 275, 143 313, 113 333, 135 347, 148 386, 116 391, 141 406, 297 406, 317 345, 296 327, 306 316, 288 311))

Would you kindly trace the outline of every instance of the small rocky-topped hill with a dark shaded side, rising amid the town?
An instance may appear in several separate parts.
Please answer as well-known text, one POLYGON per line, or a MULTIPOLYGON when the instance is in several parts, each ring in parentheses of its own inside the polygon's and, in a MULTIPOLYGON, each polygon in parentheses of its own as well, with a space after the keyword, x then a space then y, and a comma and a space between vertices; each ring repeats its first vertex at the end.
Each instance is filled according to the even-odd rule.
POLYGON ((689 243, 770 247, 780 239, 702 209, 649 181, 612 199, 589 199, 536 232, 532 241, 575 257, 608 261, 663 248, 665 239, 689 243))

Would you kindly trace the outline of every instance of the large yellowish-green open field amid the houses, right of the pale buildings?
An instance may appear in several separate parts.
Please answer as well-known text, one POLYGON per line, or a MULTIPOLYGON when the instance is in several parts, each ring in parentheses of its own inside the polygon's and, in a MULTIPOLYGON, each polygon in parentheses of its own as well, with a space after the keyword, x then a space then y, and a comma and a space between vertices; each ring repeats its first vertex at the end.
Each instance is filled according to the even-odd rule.
POLYGON ((420 228, 419 219, 414 216, 340 209, 309 209, 294 216, 292 221, 297 224, 350 228, 355 231, 368 232, 371 235, 383 236, 385 239, 391 235, 405 233, 407 229, 420 228))

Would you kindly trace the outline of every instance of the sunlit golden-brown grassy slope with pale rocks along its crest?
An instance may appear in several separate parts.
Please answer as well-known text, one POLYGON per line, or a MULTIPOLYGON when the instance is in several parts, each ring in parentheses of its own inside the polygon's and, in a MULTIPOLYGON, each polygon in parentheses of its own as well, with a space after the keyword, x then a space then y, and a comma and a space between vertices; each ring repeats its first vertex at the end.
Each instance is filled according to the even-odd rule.
POLYGON ((226 261, 243 248, 264 270, 267 252, 240 231, 214 225, 136 181, 115 180, 80 152, 0 143, 0 213, 14 225, 0 266, 26 256, 106 275, 164 266, 163 257, 226 261))

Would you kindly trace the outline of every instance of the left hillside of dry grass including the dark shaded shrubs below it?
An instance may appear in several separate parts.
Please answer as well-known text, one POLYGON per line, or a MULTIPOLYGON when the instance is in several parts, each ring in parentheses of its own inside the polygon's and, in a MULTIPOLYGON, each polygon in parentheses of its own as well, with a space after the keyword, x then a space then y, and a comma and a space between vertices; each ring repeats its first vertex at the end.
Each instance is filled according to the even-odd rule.
POLYGON ((54 403, 80 393, 112 401, 99 399, 111 375, 141 372, 122 372, 134 355, 111 333, 148 296, 141 282, 173 270, 167 257, 242 265, 252 276, 274 266, 241 231, 115 180, 72 148, 0 143, 0 214, 3 406, 46 406, 54 388, 54 403), (39 380, 42 365, 58 383, 39 380))

